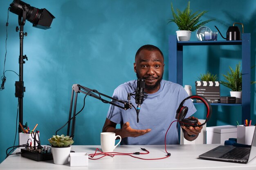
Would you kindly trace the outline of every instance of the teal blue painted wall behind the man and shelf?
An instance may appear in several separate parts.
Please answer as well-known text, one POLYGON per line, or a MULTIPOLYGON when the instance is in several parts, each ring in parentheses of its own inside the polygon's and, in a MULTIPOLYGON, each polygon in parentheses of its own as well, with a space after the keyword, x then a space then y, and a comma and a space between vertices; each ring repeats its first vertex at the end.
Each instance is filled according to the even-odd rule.
MULTIPOLYGON (((172 18, 171 2, 175 8, 184 9, 187 0, 24 0, 36 8, 46 8, 56 19, 52 28, 41 30, 26 22, 24 31, 23 121, 30 127, 38 124, 42 144, 67 121, 72 84, 81 84, 112 95, 121 83, 136 79, 133 62, 137 49, 144 44, 158 46, 165 56, 164 79, 168 77, 168 35, 175 34, 177 26, 167 24, 172 18)), ((7 9, 12 0, 0 6, 0 75, 2 76, 5 54, 7 9)), ((222 34, 234 22, 244 24, 245 33, 252 33, 252 65, 255 65, 255 18, 254 0, 215 0, 210 4, 203 0, 191 0, 191 9, 208 10, 203 20, 216 18, 208 23, 211 29, 217 25, 222 34)), ((9 13, 7 57, 5 70, 18 73, 19 33, 15 31, 18 15, 9 13)), ((191 40, 195 39, 195 32, 191 40)), ((222 40, 220 36, 218 40, 222 40)), ((184 84, 193 86, 201 74, 211 71, 220 76, 241 60, 240 49, 219 46, 186 47, 184 52, 184 84), (216 49, 217 48, 217 49, 216 49)), ((15 97, 13 72, 5 73, 5 89, 0 91, 0 162, 5 151, 13 145, 16 130, 18 99, 15 97)), ((252 70, 255 80, 255 69, 252 70)), ((193 86, 193 94, 195 88, 193 86)), ((80 94, 79 94, 80 95, 80 94)), ((221 87, 221 95, 229 95, 229 89, 221 87)), ((78 110, 84 95, 79 96, 78 110)), ((75 144, 99 145, 100 132, 106 119, 108 104, 88 97, 85 108, 77 116, 75 144)), ((197 106, 198 107, 198 106, 197 106)), ((197 116, 204 117, 198 108, 197 116)), ((240 107, 213 107, 213 118, 209 126, 232 124, 241 118, 240 107), (218 112, 218 113, 217 113, 218 112)), ((252 86, 252 120, 255 115, 255 86, 252 86)), ((66 128, 60 133, 66 133, 66 128)), ((16 139, 18 144, 18 136, 16 139)))

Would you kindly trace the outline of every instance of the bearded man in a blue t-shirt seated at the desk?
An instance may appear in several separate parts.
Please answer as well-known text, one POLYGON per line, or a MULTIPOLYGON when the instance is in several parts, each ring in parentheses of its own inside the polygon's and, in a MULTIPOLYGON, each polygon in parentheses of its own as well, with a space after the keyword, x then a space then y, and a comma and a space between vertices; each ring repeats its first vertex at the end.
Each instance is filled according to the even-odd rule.
MULTIPOLYGON (((144 45, 138 49, 134 71, 138 78, 145 79, 144 91, 148 93, 147 99, 141 104, 139 123, 135 109, 123 110, 111 105, 102 131, 120 135, 122 144, 164 144, 166 130, 176 120, 176 110, 188 94, 181 85, 162 80, 164 56, 156 46, 144 45), (116 129, 117 124, 121 124, 121 129, 116 129)), ((115 89, 113 97, 127 101, 127 93, 134 92, 136 88, 137 80, 126 82, 115 89)), ((132 98, 131 103, 135 104, 135 99, 132 98)), ((190 99, 184 102, 184 106, 189 108, 186 117, 195 113, 196 109, 190 99)), ((179 144, 176 125, 177 122, 173 123, 169 129, 166 144, 179 144)), ((189 141, 196 139, 201 129, 202 127, 182 126, 184 138, 189 141)))

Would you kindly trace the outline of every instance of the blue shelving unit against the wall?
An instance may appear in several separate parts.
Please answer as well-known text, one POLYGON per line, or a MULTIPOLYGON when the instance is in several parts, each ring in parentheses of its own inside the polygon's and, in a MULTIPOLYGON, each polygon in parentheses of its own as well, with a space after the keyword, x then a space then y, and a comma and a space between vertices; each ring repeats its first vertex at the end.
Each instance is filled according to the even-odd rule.
MULTIPOLYGON (((169 80, 183 86, 183 46, 213 46, 239 45, 242 46, 242 104, 221 104, 221 106, 242 106, 242 120, 251 119, 251 34, 243 33, 240 41, 186 41, 178 42, 176 35, 169 36, 169 80)), ((198 104, 198 103, 195 103, 198 104)))

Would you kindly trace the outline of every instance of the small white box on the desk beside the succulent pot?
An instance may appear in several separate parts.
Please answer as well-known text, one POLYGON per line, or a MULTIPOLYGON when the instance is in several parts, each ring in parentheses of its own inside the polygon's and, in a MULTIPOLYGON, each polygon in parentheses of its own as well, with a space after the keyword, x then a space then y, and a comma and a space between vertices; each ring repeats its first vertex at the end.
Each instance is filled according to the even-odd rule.
POLYGON ((86 152, 70 152, 70 166, 88 166, 86 152))

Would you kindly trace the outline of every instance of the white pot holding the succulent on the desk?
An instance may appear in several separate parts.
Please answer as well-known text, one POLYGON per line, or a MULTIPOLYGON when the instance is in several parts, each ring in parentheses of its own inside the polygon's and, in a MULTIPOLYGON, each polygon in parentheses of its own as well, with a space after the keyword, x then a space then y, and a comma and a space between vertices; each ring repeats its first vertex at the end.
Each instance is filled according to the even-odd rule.
POLYGON ((52 147, 52 157, 53 157, 53 163, 64 165, 68 163, 68 158, 70 156, 70 150, 71 147, 65 147, 65 148, 57 148, 52 147))

